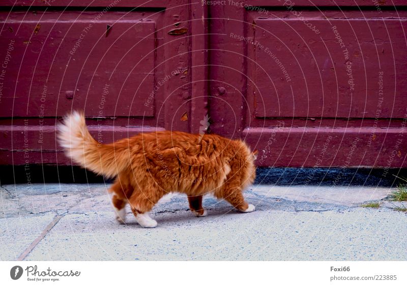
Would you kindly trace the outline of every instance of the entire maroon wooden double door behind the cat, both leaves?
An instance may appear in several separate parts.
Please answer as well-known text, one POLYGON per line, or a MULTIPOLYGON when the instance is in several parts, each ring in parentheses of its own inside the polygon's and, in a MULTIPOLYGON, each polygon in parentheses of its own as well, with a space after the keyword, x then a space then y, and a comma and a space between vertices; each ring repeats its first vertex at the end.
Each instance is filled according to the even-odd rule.
POLYGON ((259 166, 406 166, 404 1, 4 3, 0 164, 70 164, 81 109, 102 142, 209 113, 259 166))

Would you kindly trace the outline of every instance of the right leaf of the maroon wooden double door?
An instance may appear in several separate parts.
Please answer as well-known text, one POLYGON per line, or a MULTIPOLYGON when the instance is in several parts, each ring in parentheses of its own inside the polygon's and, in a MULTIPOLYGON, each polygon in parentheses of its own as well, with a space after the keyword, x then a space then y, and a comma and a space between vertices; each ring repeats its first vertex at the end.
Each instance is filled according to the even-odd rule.
POLYGON ((210 8, 213 132, 260 166, 407 166, 405 1, 230 4, 210 8))

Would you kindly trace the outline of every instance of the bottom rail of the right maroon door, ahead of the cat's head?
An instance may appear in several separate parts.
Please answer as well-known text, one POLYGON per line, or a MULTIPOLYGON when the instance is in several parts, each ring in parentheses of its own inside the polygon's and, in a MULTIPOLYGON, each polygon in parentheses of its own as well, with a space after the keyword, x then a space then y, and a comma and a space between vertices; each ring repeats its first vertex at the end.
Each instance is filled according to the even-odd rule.
MULTIPOLYGON (((406 110, 407 112, 407 110, 406 110)), ((273 167, 407 166, 401 128, 246 128, 243 137, 259 151, 256 163, 273 167), (372 133, 374 132, 374 133, 372 133), (400 133, 401 132, 401 133, 400 133)))

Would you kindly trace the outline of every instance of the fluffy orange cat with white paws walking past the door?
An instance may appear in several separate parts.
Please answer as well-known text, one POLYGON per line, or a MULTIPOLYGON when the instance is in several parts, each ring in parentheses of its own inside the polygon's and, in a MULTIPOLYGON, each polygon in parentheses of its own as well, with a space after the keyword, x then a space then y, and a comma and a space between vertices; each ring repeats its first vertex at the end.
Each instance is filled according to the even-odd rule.
POLYGON ((125 222, 130 204, 137 222, 155 227, 148 212, 169 192, 188 196, 196 216, 206 216, 202 196, 223 198, 241 212, 252 212, 242 192, 256 176, 252 153, 241 140, 218 135, 160 131, 140 133, 112 144, 98 144, 82 114, 73 112, 59 126, 58 138, 74 162, 106 177, 116 177, 109 192, 117 220, 125 222))

